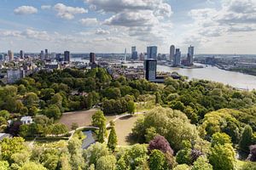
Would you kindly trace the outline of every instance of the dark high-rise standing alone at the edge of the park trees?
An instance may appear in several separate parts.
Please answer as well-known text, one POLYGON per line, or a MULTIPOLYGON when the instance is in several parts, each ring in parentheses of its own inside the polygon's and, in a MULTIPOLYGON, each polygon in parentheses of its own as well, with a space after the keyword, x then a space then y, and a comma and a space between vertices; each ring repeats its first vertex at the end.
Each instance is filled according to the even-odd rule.
POLYGON ((144 67, 145 67, 145 78, 151 82, 156 79, 156 65, 157 60, 156 59, 146 59, 144 61, 144 67))

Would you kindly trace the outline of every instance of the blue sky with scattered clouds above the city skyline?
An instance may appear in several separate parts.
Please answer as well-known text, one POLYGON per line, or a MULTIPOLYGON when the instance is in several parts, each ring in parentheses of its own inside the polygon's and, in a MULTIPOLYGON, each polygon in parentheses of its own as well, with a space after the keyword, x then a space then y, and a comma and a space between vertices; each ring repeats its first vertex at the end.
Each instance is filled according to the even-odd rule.
POLYGON ((256 54, 256 0, 0 0, 0 52, 256 54))

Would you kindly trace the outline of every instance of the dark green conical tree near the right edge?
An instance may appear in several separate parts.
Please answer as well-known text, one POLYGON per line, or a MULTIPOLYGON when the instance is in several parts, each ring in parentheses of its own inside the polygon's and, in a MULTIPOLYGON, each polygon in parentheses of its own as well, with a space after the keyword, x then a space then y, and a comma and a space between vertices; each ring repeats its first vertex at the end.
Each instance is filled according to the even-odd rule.
POLYGON ((244 127, 241 133, 241 140, 239 142, 240 150, 249 151, 249 146, 253 144, 253 129, 249 125, 244 127))

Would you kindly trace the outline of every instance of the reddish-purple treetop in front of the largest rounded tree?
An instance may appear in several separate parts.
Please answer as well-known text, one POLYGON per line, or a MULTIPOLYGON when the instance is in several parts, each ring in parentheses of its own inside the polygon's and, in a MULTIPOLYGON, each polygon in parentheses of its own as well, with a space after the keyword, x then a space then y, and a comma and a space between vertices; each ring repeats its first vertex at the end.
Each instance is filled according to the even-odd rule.
POLYGON ((148 144, 148 150, 160 150, 163 153, 170 153, 173 155, 173 150, 169 144, 169 142, 166 140, 165 137, 157 135, 154 137, 153 140, 151 140, 148 144))

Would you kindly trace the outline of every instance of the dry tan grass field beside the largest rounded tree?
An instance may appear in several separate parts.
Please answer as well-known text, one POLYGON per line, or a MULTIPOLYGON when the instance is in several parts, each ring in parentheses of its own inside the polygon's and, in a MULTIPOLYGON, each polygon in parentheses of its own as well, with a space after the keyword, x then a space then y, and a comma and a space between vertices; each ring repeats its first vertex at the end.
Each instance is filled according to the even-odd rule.
POLYGON ((132 127, 134 126, 134 123, 140 117, 143 117, 143 115, 125 116, 124 118, 120 118, 115 122, 115 129, 118 136, 119 145, 132 144, 128 137, 131 133, 132 127))

